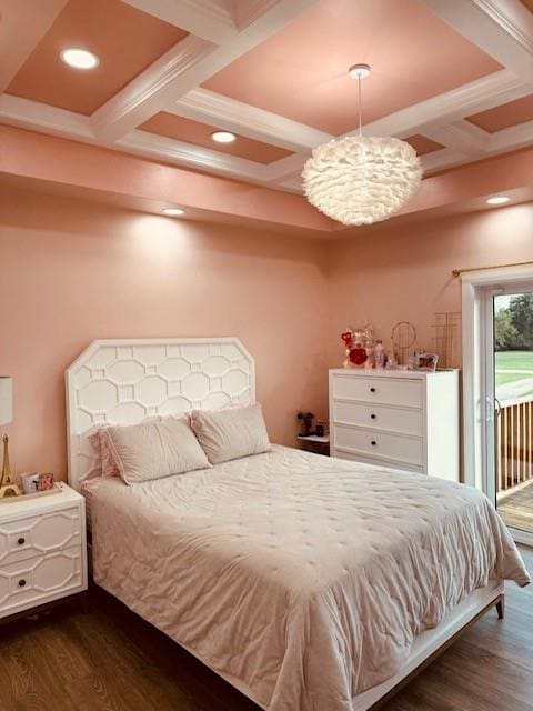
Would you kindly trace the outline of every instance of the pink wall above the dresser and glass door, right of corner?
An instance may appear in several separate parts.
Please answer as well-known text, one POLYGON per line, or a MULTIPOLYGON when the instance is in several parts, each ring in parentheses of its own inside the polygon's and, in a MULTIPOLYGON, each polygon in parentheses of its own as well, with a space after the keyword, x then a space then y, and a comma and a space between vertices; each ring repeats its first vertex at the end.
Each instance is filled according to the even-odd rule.
MULTIPOLYGON (((339 333, 365 321, 385 344, 396 321, 412 321, 416 346, 431 350, 434 313, 461 310, 452 269, 533 260, 533 203, 411 224, 391 220, 352 230, 330 248, 330 365, 342 362, 339 333)), ((454 360, 461 364, 459 340, 454 360)))

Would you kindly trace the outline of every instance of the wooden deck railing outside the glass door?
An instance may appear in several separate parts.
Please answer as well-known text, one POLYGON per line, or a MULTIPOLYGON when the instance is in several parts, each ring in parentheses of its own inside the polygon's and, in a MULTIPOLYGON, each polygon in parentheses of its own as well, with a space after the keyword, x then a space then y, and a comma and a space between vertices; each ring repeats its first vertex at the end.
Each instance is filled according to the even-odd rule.
POLYGON ((502 403, 496 419, 497 493, 505 495, 533 480, 533 401, 502 403))

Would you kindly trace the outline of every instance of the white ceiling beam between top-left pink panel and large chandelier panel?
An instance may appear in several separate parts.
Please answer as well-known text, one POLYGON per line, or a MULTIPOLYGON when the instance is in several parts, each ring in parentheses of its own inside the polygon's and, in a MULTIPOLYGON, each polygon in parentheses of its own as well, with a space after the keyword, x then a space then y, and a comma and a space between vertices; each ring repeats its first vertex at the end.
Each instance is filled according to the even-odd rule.
POLYGON ((97 136, 107 143, 119 140, 278 32, 316 1, 278 0, 273 6, 266 3, 263 14, 220 47, 187 37, 93 113, 97 136), (184 61, 175 60, 174 53, 180 54, 182 47, 191 51, 185 52, 184 61))

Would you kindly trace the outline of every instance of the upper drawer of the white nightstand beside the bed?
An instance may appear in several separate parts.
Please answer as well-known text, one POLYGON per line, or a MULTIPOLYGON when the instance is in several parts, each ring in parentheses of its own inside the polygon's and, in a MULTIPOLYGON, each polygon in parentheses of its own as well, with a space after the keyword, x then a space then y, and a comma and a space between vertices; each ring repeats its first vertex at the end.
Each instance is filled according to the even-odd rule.
MULTIPOLYGON (((14 504, 6 504, 14 505, 14 504)), ((0 565, 81 545, 83 522, 74 505, 0 522, 0 565)))

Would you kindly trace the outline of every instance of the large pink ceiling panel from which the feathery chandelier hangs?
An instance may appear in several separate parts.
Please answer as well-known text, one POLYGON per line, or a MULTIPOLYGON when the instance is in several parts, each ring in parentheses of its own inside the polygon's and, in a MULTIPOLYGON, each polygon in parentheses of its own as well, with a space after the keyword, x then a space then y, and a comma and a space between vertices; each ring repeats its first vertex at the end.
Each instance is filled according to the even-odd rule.
POLYGON ((501 69, 416 0, 322 0, 203 86, 338 136, 355 126, 355 62, 372 66, 364 122, 501 69))

